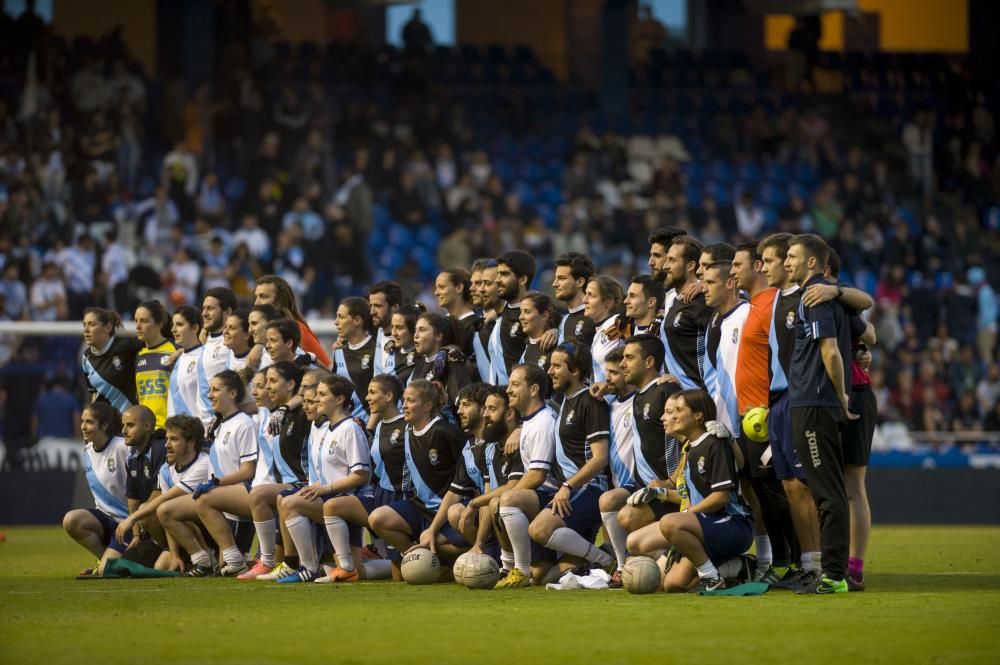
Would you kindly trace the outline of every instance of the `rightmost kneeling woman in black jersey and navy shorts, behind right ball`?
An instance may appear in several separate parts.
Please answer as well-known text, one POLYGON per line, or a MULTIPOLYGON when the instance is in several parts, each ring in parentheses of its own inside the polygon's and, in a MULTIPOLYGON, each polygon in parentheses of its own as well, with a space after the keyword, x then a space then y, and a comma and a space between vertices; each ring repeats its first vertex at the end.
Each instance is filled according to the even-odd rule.
MULTIPOLYGON (((753 518, 740 494, 733 444, 706 430, 715 404, 703 390, 677 393, 672 430, 688 444, 684 485, 690 505, 659 522, 666 543, 681 555, 664 579, 666 591, 716 591, 726 587, 716 564, 738 557, 753 542, 753 518)), ((668 500, 679 502, 677 490, 668 500)))

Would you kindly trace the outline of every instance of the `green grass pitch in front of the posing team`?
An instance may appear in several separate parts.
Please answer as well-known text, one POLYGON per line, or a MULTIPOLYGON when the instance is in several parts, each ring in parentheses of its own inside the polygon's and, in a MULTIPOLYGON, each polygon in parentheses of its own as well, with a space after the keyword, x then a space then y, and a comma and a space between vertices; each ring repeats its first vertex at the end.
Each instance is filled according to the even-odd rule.
POLYGON ((3 532, 3 664, 1000 663, 1000 527, 878 527, 868 591, 758 598, 78 582, 59 528, 3 532))

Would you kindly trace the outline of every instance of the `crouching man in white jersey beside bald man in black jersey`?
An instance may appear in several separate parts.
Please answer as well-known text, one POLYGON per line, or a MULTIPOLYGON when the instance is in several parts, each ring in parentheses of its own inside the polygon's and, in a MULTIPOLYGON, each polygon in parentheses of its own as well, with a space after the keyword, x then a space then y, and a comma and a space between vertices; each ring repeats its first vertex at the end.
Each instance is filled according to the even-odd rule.
MULTIPOLYGON (((160 467, 157 480, 160 493, 121 521, 116 531, 118 538, 125 537, 136 524, 146 524, 154 520, 161 504, 190 496, 199 485, 211 477, 212 465, 208 460, 208 453, 201 450, 204 432, 201 420, 187 415, 170 416, 167 418, 166 430, 167 461, 160 467)), ((189 531, 198 530, 197 525, 188 524, 186 528, 189 531)), ((198 531, 200 538, 200 530, 198 531)), ((168 545, 167 542, 160 544, 168 545)), ((170 552, 164 552, 156 561, 155 567, 171 570, 182 568, 180 558, 175 559, 170 552)))

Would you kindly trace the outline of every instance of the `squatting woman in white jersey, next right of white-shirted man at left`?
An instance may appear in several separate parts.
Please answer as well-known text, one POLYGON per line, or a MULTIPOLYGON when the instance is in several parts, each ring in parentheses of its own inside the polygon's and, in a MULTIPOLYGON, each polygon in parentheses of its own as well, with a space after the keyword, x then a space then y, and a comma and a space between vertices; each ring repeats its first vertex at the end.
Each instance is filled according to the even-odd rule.
POLYGON ((156 516, 168 535, 191 557, 192 566, 187 571, 190 577, 213 575, 214 567, 211 553, 203 542, 198 541, 195 531, 188 526, 189 522, 201 523, 219 543, 225 561, 220 571, 223 575, 238 575, 246 570, 243 552, 236 547, 233 538, 234 523, 214 509, 204 509, 203 516, 197 504, 201 496, 223 491, 227 499, 233 499, 233 505, 225 508, 227 511, 249 513, 242 506, 249 505, 247 486, 257 466, 257 428, 250 416, 239 410, 238 405, 245 394, 242 379, 232 370, 223 370, 212 378, 208 392, 216 412, 216 422, 209 437, 212 476, 196 487, 190 496, 168 501, 156 510, 156 516))

